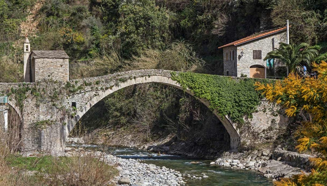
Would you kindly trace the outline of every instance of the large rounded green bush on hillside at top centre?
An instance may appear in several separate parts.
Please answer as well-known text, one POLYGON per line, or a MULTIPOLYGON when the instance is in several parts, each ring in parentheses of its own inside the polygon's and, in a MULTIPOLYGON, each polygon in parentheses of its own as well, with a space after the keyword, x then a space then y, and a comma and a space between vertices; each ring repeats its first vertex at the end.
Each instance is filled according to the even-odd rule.
POLYGON ((169 35, 169 12, 159 8, 153 0, 123 3, 119 8, 119 37, 125 56, 144 49, 163 48, 169 35))

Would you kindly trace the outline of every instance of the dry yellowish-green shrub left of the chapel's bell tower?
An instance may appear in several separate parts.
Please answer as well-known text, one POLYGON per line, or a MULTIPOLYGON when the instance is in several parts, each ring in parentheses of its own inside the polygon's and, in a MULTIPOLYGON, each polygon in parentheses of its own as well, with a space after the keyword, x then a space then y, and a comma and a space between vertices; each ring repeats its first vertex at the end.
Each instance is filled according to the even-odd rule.
POLYGON ((24 64, 16 57, 0 55, 0 82, 22 82, 24 76, 24 64))

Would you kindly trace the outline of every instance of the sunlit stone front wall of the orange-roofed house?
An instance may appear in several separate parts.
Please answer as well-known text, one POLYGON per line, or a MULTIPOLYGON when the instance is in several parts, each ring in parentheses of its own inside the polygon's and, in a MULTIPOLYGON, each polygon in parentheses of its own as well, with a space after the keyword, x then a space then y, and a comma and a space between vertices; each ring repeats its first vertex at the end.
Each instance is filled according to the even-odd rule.
POLYGON ((243 56, 239 56, 237 60, 238 77, 240 77, 241 74, 245 74, 247 77, 249 77, 250 66, 252 65, 261 65, 265 68, 267 67, 267 62, 263 59, 267 56, 268 52, 273 50, 273 40, 274 48, 278 48, 280 42, 286 42, 286 31, 278 32, 260 39, 255 39, 237 46, 237 54, 240 54, 242 50, 244 53, 243 56), (261 50, 262 59, 253 59, 253 50, 261 50))

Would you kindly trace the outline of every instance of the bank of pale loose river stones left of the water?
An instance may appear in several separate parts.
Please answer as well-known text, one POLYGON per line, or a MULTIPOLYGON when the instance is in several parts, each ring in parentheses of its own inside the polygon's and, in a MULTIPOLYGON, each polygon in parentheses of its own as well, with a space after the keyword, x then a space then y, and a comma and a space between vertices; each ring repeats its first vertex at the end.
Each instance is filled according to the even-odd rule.
POLYGON ((154 164, 141 163, 134 159, 122 159, 100 151, 84 151, 66 147, 65 156, 74 156, 80 152, 94 153, 96 157, 101 158, 110 165, 117 166, 119 176, 115 177, 113 182, 116 185, 123 186, 180 186, 184 185, 180 172, 166 167, 159 167, 154 164))

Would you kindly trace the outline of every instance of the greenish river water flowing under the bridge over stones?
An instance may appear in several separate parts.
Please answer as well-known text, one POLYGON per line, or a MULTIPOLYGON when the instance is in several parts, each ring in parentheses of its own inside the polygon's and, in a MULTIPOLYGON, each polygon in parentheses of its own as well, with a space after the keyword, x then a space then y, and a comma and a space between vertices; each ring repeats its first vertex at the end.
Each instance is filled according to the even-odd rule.
MULTIPOLYGON (((87 149, 102 150, 98 146, 83 145, 87 149)), ((272 186, 272 180, 258 174, 254 170, 234 169, 230 167, 220 167, 210 165, 210 160, 192 160, 173 155, 160 155, 151 151, 127 148, 127 147, 109 147, 106 148, 107 154, 126 159, 139 159, 142 163, 152 163, 157 166, 175 169, 184 174, 184 181, 188 186, 272 186), (198 162, 198 163, 191 163, 198 162), (192 179, 187 177, 202 177, 203 173, 209 178, 192 179)))

